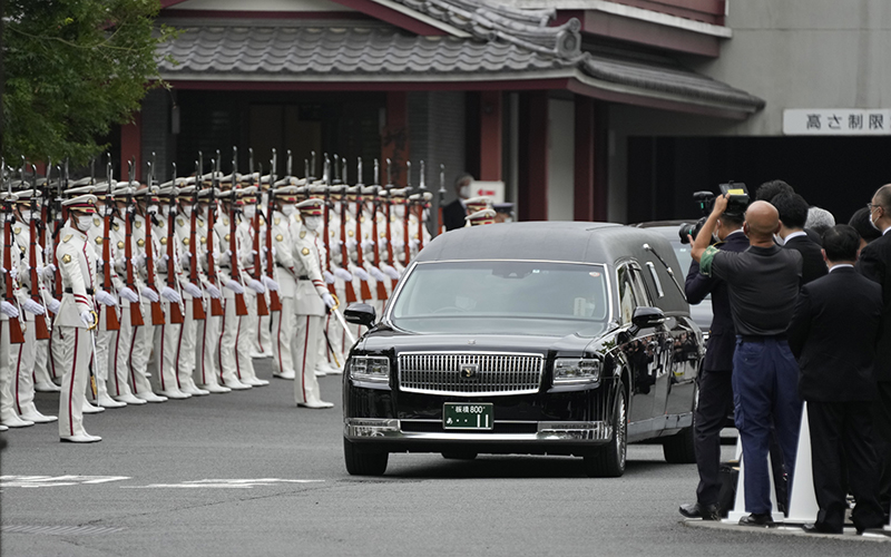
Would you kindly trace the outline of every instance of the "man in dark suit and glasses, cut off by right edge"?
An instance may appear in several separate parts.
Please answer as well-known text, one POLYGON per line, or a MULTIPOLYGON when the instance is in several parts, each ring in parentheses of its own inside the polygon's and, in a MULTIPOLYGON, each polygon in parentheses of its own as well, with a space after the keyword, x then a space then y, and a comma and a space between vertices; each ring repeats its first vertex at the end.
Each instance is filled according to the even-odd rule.
POLYGON ((891 184, 880 187, 866 208, 870 223, 882 237, 860 252, 856 268, 882 286, 882 338, 875 354, 879 400, 873 408, 873 426, 881 467, 879 502, 888 514, 891 506, 891 184))

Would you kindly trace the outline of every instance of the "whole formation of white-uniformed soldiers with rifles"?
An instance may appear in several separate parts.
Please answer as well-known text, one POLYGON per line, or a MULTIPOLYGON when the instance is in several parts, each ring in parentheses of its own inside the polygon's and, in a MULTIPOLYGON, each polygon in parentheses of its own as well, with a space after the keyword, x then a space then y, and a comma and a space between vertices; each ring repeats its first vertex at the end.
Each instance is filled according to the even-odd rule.
MULTIPOLYGON (((133 167, 116 182, 110 165, 100 183, 23 173, 7 183, 3 429, 56 421, 33 393, 60 391, 61 440, 96 442, 82 413, 262 387, 253 358, 265 355, 275 377, 295 380, 298 407, 333 407, 316 377, 342 373, 360 333, 340 301, 383 310, 430 241, 432 193, 423 180, 350 186, 327 160, 321 180, 291 177, 290 160, 283 179, 219 166, 217 156, 213 172, 199 163, 184 178, 174 166, 159 185, 150 164, 146 184, 133 167), (43 203, 52 192, 55 211, 43 203)), ((468 207, 469 224, 495 217, 486 198, 468 207)))

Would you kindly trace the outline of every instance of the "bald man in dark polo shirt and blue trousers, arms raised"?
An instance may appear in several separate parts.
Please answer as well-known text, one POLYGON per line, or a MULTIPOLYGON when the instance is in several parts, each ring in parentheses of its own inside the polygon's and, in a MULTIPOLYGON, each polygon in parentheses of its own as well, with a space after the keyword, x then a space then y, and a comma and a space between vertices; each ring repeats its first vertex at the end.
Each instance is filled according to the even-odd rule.
POLYGON ((692 255, 702 274, 717 276, 730 286, 736 326, 734 416, 743 440, 745 510, 750 512, 740 524, 764 527, 773 525, 767 472, 771 426, 783 451, 790 483, 799 446, 802 409, 797 395, 799 367, 786 342, 786 329, 799 294, 802 258, 799 252, 774 243, 773 235, 781 226, 780 215, 763 201, 750 205, 745 214, 743 232, 748 236, 748 250, 728 252, 709 246, 727 201, 727 195, 715 199, 696 241, 691 237, 692 255))

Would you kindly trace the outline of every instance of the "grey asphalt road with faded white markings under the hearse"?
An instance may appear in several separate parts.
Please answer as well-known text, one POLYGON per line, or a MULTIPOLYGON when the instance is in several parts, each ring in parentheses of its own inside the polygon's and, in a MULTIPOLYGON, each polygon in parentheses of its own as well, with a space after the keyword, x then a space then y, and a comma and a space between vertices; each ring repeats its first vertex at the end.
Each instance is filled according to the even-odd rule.
MULTIPOLYGON (((271 379, 268 360, 256 361, 271 379)), ((320 380, 333 410, 297 409, 293 383, 87 416, 89 446, 56 424, 0 433, 2 555, 881 555, 891 545, 685 525, 692 465, 629 449, 619 479, 580 460, 391 456, 355 478, 342 457, 340 377, 320 380)), ((38 393, 56 413, 57 398, 38 393)), ((727 457, 733 447, 725 447, 727 457)))

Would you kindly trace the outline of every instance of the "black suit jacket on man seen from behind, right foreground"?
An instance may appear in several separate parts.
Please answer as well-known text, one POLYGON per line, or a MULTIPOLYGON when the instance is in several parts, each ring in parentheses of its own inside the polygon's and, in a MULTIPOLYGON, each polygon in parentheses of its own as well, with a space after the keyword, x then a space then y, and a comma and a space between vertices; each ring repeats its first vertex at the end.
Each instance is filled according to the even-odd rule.
POLYGON ((882 289, 842 267, 804 285, 789 325, 803 400, 851 402, 875 397, 875 349, 882 289))

